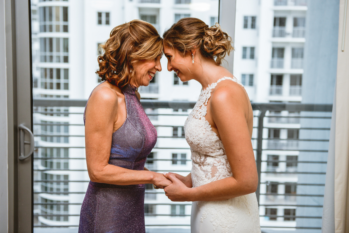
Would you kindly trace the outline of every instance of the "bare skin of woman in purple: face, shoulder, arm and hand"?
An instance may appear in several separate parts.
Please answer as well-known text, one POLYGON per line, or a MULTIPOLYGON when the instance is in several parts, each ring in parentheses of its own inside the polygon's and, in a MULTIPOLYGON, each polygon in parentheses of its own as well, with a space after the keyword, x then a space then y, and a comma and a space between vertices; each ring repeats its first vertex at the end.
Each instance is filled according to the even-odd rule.
MULTIPOLYGON (((149 85, 151 76, 148 72, 155 74, 161 71, 160 58, 161 55, 154 60, 136 62, 130 84, 134 87, 149 85)), ((140 98, 138 92, 136 95, 140 98)), ((120 88, 109 82, 98 85, 86 108, 86 162, 91 181, 113 185, 153 183, 160 187, 168 186, 171 181, 161 173, 147 168, 134 171, 108 163, 112 134, 122 126, 126 116, 125 96, 120 88)))

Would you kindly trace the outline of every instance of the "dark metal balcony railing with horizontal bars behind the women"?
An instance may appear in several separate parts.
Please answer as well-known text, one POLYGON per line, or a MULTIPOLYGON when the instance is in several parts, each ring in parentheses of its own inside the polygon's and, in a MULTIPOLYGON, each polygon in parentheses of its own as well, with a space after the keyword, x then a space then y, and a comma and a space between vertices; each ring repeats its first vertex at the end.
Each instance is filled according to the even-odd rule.
MULTIPOLYGON (((172 138, 171 128, 178 126, 173 125, 173 122, 181 121, 184 123, 189 113, 189 111, 186 110, 193 108, 195 104, 195 102, 166 102, 157 100, 141 100, 141 103, 145 109, 157 110, 156 112, 149 113, 149 115, 156 115, 157 117, 157 123, 154 124, 158 129, 158 142, 170 140, 172 138), (178 109, 182 109, 183 111, 181 113, 173 113, 172 110, 178 109)), ((54 109, 59 109, 59 107, 67 107, 69 109, 68 112, 65 112, 65 114, 69 115, 69 144, 47 144, 46 142, 40 141, 42 136, 47 136, 42 135, 38 130, 44 123, 38 121, 34 122, 34 134, 36 138, 36 148, 34 154, 34 227, 37 230, 47 228, 50 229, 50 233, 64 232, 64 229, 69 230, 69 232, 77 232, 81 203, 89 182, 86 164, 84 162, 85 146, 83 140, 84 127, 82 113, 85 105, 86 100, 34 99, 34 119, 46 114, 46 111, 44 111, 45 109, 50 110, 52 107, 57 107, 54 109), (47 156, 42 156, 43 154, 40 153, 44 149, 46 150, 47 156), (58 154, 58 149, 60 151, 60 155, 58 154), (68 157, 65 157, 63 154, 65 149, 68 149, 70 152, 68 157), (50 155, 48 154, 49 152, 50 155), (51 168, 51 166, 45 165, 47 163, 44 163, 44 166, 42 165, 42 161, 53 159, 55 159, 55 161, 68 160, 69 166, 60 165, 53 166, 53 168, 51 168), (43 174, 48 175, 44 176, 43 174), (64 184, 62 185, 62 183, 64 184), (68 190, 66 188, 62 188, 66 187, 65 183, 68 183, 68 190), (47 186, 45 184, 50 185, 47 186), (42 187, 50 188, 46 189, 42 187), (43 198, 50 201, 43 202, 43 198), (58 208, 58 206, 60 207, 58 208), (47 211, 48 209, 52 211, 47 211)), ((270 214, 265 215, 265 208, 275 208, 276 205, 279 206, 278 208, 280 208, 280 203, 276 201, 273 203, 271 200, 272 198, 269 198, 271 194, 265 192, 266 185, 269 183, 268 177, 273 177, 272 181, 275 182, 275 179, 278 177, 288 178, 289 175, 292 175, 292 177, 301 176, 302 179, 299 179, 300 181, 296 184, 297 187, 299 187, 297 188, 297 193, 277 194, 278 197, 280 195, 284 196, 283 199, 285 202, 282 204, 282 208, 290 209, 290 206, 292 206, 292 208, 297 208, 297 210, 306 208, 309 210, 306 211, 307 213, 312 213, 311 215, 299 214, 295 216, 296 219, 321 219, 323 193, 321 193, 321 191, 319 193, 317 190, 323 189, 325 183, 326 168, 324 167, 326 167, 326 153, 328 150, 332 105, 252 103, 252 108, 254 110, 255 118, 253 130, 257 131, 254 132, 254 136, 252 137, 252 145, 257 158, 256 164, 259 176, 259 185, 256 195, 259 201, 262 230, 278 230, 280 227, 289 228, 287 225, 279 224, 276 226, 275 224, 270 224, 269 221, 265 221, 265 219, 272 216, 270 214), (273 117, 266 115, 268 111, 300 112, 300 114, 295 115, 295 118, 297 118, 298 121, 301 119, 300 127, 297 128, 300 131, 300 138, 295 140, 276 140, 268 138, 268 135, 265 134, 266 130, 263 130, 268 129, 268 120, 265 118, 273 117), (311 122, 311 126, 309 126, 309 122, 311 122), (302 132, 305 132, 305 136, 303 137, 302 132), (309 135, 315 135, 315 132, 321 132, 321 134, 314 138, 308 137, 309 135), (290 170, 286 168, 281 169, 280 171, 277 169, 267 169, 268 162, 280 162, 280 164, 287 163, 285 160, 267 159, 267 155, 275 155, 278 153, 277 151, 283 151, 282 155, 294 155, 297 152, 298 160, 292 160, 292 163, 297 164, 298 169, 290 170), (312 187, 316 187, 316 189, 312 189, 312 187), (268 202, 265 202, 266 196, 269 198, 268 202), (301 197, 299 201, 297 197, 301 197), (292 201, 292 203, 288 204, 287 201, 292 201)), ((56 112, 50 112, 50 114, 55 115, 56 112)), ((50 118, 51 116, 44 115, 44 117, 50 118)), ((276 116, 274 116, 274 118, 275 117, 276 116)), ((51 118, 56 119, 57 117, 52 116, 51 118)), ((289 115, 288 118, 291 119, 292 117, 289 115)), ((54 125, 54 123, 50 124, 54 125)), ((61 123, 58 122, 57 125, 61 125, 61 123)), ((273 128, 275 128, 275 126, 273 128)), ((280 129, 287 130, 287 123, 282 125, 280 129)), ((57 133, 57 135, 60 136, 59 133, 57 133)), ((176 140, 175 144, 158 143, 152 151, 157 155, 153 156, 152 158, 148 158, 146 166, 155 172, 172 171, 183 175, 188 174, 190 172, 191 160, 186 159, 186 165, 181 165, 179 163, 172 164, 173 158, 171 153, 184 153, 188 151, 190 153, 189 147, 184 138, 176 138, 174 140, 176 140)), ((188 155, 187 158, 190 158, 190 156, 188 155)), ((180 160, 183 161, 183 159, 180 160)), ((283 181, 280 182, 282 184, 283 181)), ((151 186, 147 186, 145 201, 147 205, 147 213, 145 213, 146 228, 166 228, 167 232, 188 232, 188 229, 190 228, 189 216, 191 203, 166 202, 164 200, 167 200, 167 198, 164 195, 163 190, 155 190, 151 186), (179 211, 178 214, 174 214, 171 211, 171 205, 181 204, 185 205, 184 214, 183 208, 178 208, 181 210, 181 212, 179 211), (166 212, 165 210, 168 211, 166 212), (171 228, 172 231, 169 230, 171 228)), ((285 216, 280 215, 279 213, 279 215, 275 215, 274 217, 282 218, 285 216)), ((321 224, 316 224, 313 221, 310 221, 309 223, 304 223, 303 221, 302 224, 303 225, 298 225, 297 223, 297 226, 295 225, 291 228, 310 230, 321 229, 321 224), (308 225, 304 226, 304 224, 308 225)))

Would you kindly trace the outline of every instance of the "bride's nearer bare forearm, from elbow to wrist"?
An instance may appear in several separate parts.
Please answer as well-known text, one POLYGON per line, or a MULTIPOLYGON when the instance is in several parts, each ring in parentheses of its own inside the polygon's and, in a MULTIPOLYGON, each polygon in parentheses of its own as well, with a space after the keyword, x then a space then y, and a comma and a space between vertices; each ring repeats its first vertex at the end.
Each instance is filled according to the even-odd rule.
POLYGON ((188 189, 188 201, 222 201, 255 192, 254 182, 238 182, 234 177, 188 189))

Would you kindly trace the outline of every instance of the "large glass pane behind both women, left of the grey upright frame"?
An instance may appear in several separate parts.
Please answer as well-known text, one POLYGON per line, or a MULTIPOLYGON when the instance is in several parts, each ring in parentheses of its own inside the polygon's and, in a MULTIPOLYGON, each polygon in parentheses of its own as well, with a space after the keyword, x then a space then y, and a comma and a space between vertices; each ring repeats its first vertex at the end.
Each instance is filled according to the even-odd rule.
MULTIPOLYGON (((37 20, 32 21, 32 70, 36 82, 33 98, 34 103, 38 99, 44 101, 34 106, 33 115, 35 233, 77 233, 81 203, 89 183, 83 111, 91 91, 101 81, 95 72, 97 56, 104 52, 98 51, 96 45, 104 43, 114 27, 133 19, 153 24, 161 36, 183 17, 197 17, 209 26, 214 25, 218 22, 218 3, 218 0, 31 0, 32 18, 37 20), (76 99, 85 102, 72 106, 69 101, 76 99)), ((257 22, 249 16, 248 28, 255 28, 257 22)), ((249 46, 246 58, 254 59, 254 56, 254 48, 249 46)), ((138 89, 142 101, 196 102, 201 85, 196 81, 183 83, 175 73, 168 72, 164 56, 161 63, 162 72, 156 74, 149 86, 138 89)), ((253 80, 247 73, 246 82, 253 83, 253 80)), ((157 142, 162 145, 151 152, 146 167, 161 173, 180 170, 180 174, 187 175, 191 163, 187 163, 186 158, 190 158, 191 151, 184 138, 183 125, 190 110, 148 108, 146 112, 157 125, 157 142)), ((163 190, 147 187, 146 228, 188 232, 191 203, 173 203, 163 190)))

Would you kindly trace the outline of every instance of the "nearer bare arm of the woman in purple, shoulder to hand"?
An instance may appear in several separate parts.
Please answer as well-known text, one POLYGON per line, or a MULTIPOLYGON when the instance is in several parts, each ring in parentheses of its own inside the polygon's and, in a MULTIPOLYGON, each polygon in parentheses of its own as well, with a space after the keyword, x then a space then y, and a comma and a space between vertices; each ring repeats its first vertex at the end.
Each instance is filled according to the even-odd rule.
MULTIPOLYGON (((134 171, 108 163, 118 111, 121 109, 114 90, 102 87, 92 93, 86 109, 85 123, 86 161, 91 181, 114 185, 169 185, 171 182, 161 173, 134 171)), ((122 120, 124 119, 119 119, 122 120)))

